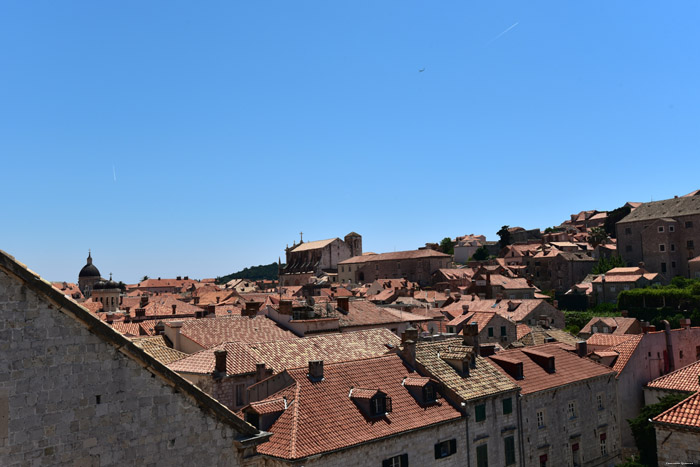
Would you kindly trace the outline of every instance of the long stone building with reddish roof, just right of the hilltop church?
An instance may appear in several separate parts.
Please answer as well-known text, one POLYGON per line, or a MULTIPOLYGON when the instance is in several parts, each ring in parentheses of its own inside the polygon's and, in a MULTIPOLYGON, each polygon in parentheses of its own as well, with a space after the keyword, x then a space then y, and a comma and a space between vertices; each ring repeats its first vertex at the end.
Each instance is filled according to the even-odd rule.
POLYGON ((450 255, 429 249, 366 254, 340 261, 338 280, 366 284, 382 278, 405 278, 425 286, 435 271, 449 267, 451 262, 450 255))

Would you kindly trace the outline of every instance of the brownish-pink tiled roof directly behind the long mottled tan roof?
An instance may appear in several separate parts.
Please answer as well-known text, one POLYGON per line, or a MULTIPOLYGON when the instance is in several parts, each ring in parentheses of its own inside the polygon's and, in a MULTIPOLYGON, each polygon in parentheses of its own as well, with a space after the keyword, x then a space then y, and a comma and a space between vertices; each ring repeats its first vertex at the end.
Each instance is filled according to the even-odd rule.
POLYGON ((298 339, 266 316, 193 319, 183 322, 180 333, 205 349, 222 342, 298 339))

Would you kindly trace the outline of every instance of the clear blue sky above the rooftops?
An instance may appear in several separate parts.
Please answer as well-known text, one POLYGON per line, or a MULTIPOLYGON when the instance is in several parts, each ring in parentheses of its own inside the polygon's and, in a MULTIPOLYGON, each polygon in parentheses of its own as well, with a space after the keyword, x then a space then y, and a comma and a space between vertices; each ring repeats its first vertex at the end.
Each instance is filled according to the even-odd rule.
POLYGON ((0 248, 76 281, 700 188, 700 4, 0 4, 0 248), (425 68, 424 72, 419 69, 425 68))

